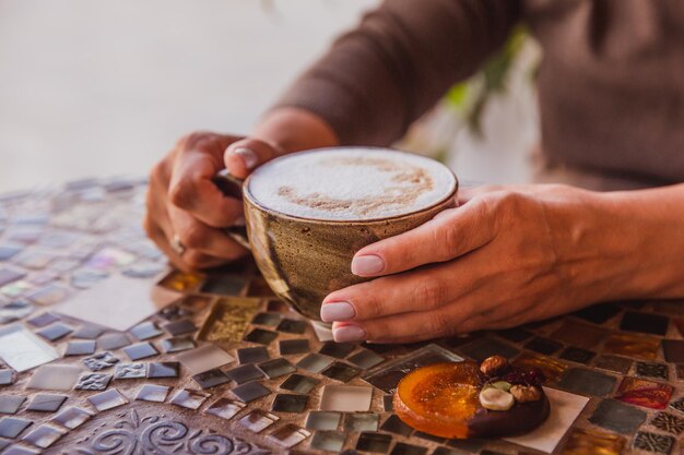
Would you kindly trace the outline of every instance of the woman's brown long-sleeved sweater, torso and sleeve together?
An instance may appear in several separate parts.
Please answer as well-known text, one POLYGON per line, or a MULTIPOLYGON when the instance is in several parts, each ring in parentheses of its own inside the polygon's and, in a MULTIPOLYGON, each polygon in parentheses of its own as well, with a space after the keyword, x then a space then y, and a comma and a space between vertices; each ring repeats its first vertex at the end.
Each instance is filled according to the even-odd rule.
POLYGON ((386 0, 279 105, 321 116, 343 144, 391 144, 520 21, 544 51, 550 160, 684 180, 684 0, 386 0))

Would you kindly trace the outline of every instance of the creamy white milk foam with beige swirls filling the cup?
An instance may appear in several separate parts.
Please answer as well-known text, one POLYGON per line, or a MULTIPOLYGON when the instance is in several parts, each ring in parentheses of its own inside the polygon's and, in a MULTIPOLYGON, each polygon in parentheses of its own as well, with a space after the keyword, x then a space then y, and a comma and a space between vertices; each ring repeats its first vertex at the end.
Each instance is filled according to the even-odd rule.
POLYGON ((403 215, 448 196, 456 178, 441 164, 381 148, 330 148, 259 167, 247 189, 260 205, 292 216, 368 220, 403 215))

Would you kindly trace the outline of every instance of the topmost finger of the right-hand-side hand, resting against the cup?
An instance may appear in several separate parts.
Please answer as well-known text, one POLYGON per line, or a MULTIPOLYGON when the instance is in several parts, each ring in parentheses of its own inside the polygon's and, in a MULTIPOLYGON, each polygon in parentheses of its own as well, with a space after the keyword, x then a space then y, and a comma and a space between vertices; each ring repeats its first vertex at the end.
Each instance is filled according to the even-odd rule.
POLYGON ((496 231, 496 216, 488 203, 474 200, 444 211, 415 229, 361 249, 352 260, 352 273, 390 275, 449 261, 485 246, 496 231))

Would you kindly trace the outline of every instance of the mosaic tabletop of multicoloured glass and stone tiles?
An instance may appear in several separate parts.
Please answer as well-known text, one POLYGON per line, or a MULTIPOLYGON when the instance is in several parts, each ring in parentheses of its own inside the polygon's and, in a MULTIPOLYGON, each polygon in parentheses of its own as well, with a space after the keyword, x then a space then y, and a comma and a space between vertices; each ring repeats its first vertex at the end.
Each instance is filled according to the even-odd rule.
POLYGON ((167 270, 140 227, 144 189, 82 180, 0 196, 0 454, 541 454, 440 440, 392 415, 416 366, 493 354, 588 398, 553 453, 680 453, 684 302, 605 303, 411 346, 334 344, 253 264, 167 270), (174 301, 123 331, 82 321, 126 322, 135 283, 174 301), (79 318, 61 313, 96 289, 79 318))

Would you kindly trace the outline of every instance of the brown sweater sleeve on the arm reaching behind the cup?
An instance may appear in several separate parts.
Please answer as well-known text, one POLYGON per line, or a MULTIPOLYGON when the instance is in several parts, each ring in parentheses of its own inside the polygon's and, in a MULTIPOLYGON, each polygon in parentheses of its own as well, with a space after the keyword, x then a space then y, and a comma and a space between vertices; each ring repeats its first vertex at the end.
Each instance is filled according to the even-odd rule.
POLYGON ((386 0, 276 106, 323 118, 343 145, 388 145, 499 48, 519 0, 386 0))

